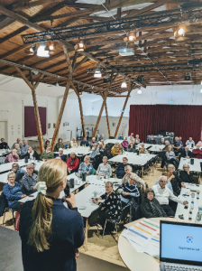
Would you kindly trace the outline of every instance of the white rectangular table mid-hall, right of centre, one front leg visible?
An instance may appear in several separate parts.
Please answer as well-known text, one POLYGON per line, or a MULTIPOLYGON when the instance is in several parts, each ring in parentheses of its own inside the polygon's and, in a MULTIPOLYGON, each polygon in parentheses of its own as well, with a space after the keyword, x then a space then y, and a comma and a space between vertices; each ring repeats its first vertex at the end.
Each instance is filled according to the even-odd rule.
POLYGON ((109 162, 112 163, 123 163, 123 157, 128 158, 128 164, 133 164, 133 165, 139 165, 142 166, 142 178, 143 178, 143 167, 145 164, 150 162, 154 157, 156 157, 156 154, 134 154, 134 153, 127 153, 125 154, 119 154, 116 155, 115 157, 109 159, 109 162))

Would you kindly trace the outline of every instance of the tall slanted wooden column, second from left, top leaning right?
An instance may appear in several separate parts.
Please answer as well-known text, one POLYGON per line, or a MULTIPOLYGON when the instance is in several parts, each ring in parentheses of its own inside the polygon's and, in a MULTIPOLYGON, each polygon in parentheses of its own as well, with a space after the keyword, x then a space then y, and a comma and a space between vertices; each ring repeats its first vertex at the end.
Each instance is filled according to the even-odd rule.
POLYGON ((58 120, 57 120, 57 124, 55 126, 55 131, 54 131, 54 134, 53 134, 53 137, 52 137, 52 142, 51 142, 51 151, 52 152, 54 150, 54 146, 56 145, 56 140, 57 140, 57 137, 59 135, 61 118, 62 118, 62 115, 64 113, 64 108, 66 106, 66 102, 67 102, 67 98, 68 98, 68 94, 69 94, 69 87, 70 87, 70 84, 71 84, 71 81, 72 81, 72 74, 73 74, 73 69, 72 69, 72 65, 71 65, 71 61, 70 61, 70 57, 69 57, 68 48, 65 45, 63 45, 62 47, 63 47, 63 51, 64 51, 64 54, 65 54, 65 57, 66 57, 66 61, 68 63, 69 78, 68 78, 65 93, 64 93, 64 96, 63 96, 63 99, 62 99, 62 102, 61 102, 60 113, 59 113, 59 117, 58 117, 58 120))

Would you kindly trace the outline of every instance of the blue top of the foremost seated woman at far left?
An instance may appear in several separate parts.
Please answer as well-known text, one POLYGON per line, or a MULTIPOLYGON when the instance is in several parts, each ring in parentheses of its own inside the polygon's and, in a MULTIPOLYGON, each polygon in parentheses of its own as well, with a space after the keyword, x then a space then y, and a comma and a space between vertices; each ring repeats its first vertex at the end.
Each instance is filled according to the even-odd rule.
POLYGON ((6 183, 3 188, 3 193, 8 201, 8 206, 14 203, 14 201, 19 201, 23 195, 23 192, 21 192, 21 185, 18 182, 14 182, 14 186, 6 183))

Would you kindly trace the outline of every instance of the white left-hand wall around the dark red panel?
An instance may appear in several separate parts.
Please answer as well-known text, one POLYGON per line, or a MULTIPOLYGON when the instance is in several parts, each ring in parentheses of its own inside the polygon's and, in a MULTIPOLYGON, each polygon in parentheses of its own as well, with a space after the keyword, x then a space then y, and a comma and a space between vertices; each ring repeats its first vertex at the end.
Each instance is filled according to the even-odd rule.
MULTIPOLYGON (((58 98, 37 95, 37 102, 39 107, 47 107, 47 125, 50 123, 50 129, 47 126, 47 136, 51 138, 54 132, 53 123, 56 123, 58 117, 58 98)), ((6 140, 9 146, 14 144, 17 137, 23 139, 24 106, 33 106, 31 94, 0 91, 0 121, 7 121, 6 140)))

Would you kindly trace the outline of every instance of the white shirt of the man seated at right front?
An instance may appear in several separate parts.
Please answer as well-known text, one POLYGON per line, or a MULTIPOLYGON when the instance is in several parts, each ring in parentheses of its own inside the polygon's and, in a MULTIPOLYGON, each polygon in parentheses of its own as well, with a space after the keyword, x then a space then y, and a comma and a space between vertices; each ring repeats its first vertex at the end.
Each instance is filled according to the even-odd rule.
POLYGON ((167 185, 162 189, 160 184, 156 184, 152 186, 152 190, 155 193, 155 199, 160 202, 160 205, 169 205, 169 199, 183 204, 183 201, 179 200, 167 185))

